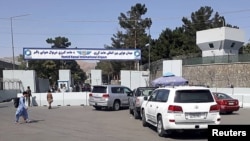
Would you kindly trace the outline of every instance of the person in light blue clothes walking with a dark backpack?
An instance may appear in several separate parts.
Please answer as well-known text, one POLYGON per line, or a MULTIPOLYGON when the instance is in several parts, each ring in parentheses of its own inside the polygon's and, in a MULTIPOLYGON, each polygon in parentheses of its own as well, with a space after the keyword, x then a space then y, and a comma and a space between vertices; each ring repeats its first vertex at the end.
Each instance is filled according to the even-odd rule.
POLYGON ((22 116, 26 123, 29 123, 29 115, 28 115, 28 107, 25 105, 25 98, 28 97, 28 93, 26 91, 23 92, 23 95, 19 99, 19 105, 16 110, 16 121, 19 122, 19 118, 22 116))

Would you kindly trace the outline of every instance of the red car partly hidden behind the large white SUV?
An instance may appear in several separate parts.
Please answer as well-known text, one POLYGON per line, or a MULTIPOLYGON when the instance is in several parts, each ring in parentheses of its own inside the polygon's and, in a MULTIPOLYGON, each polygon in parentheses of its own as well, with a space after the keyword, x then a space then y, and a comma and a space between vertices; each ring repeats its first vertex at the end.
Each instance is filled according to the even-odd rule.
POLYGON ((220 105, 220 113, 231 114, 240 109, 239 100, 228 94, 213 92, 216 102, 220 105))

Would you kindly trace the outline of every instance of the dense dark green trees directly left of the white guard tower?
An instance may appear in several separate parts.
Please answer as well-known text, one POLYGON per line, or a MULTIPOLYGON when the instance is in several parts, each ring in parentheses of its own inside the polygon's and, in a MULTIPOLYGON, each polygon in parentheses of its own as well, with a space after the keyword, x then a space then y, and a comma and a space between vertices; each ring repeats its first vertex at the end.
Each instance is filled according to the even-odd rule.
POLYGON ((222 26, 234 27, 226 24, 225 18, 218 12, 213 15, 213 9, 205 6, 191 13, 190 18, 182 18, 183 25, 174 30, 166 28, 160 34, 152 47, 152 60, 187 58, 201 56, 201 50, 196 44, 196 32, 222 26))

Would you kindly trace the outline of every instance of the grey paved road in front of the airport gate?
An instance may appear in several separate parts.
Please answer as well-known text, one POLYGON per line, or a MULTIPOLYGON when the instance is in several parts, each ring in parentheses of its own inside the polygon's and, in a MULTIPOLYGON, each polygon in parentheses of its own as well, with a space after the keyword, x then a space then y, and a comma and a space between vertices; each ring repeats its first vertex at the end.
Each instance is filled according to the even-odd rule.
MULTIPOLYGON (((14 124, 13 103, 0 103, 0 141, 206 141, 206 135, 159 137, 128 110, 96 111, 88 106, 30 107, 32 123, 14 124)), ((222 115, 222 124, 250 124, 250 109, 222 115)))

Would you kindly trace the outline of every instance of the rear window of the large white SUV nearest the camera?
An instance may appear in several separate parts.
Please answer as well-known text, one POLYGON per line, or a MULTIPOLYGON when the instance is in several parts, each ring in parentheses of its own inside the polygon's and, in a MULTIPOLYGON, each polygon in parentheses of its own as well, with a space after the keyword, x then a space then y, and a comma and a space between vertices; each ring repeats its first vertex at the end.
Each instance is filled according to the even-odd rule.
POLYGON ((178 90, 175 94, 176 103, 213 102, 209 90, 178 90))

